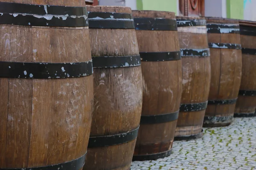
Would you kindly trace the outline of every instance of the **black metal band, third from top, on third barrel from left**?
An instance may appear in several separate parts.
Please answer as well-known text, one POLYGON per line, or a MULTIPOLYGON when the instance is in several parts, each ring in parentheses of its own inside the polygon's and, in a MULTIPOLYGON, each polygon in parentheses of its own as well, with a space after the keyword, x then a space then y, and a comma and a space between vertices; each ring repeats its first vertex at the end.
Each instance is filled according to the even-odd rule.
POLYGON ((179 111, 174 113, 160 114, 160 115, 149 115, 141 116, 140 124, 157 124, 157 123, 166 123, 177 120, 179 117, 179 111))

